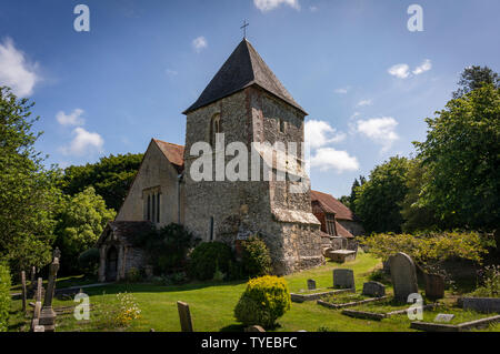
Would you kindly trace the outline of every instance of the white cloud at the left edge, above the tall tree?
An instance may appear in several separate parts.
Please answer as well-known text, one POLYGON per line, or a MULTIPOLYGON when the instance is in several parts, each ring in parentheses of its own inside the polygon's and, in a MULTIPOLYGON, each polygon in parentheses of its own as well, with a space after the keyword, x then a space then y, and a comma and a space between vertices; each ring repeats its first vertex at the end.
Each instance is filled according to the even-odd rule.
POLYGON ((12 39, 7 38, 0 43, 0 85, 7 85, 18 97, 28 97, 40 78, 36 70, 38 64, 31 64, 24 53, 16 49, 12 39))

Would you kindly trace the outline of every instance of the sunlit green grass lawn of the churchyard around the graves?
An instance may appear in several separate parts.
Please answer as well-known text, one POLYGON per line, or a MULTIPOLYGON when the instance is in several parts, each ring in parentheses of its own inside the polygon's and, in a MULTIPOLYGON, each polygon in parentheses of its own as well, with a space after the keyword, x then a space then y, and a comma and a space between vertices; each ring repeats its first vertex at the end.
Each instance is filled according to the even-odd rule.
MULTIPOLYGON (((370 254, 359 253, 353 262, 341 265, 329 262, 324 266, 288 275, 284 279, 290 292, 297 293, 301 289, 307 289, 308 279, 316 280, 318 287, 326 289, 332 286, 333 269, 352 269, 357 292, 360 293, 363 282, 368 281, 370 273, 380 266, 379 260, 370 254)), ((90 321, 76 321, 72 315, 61 315, 58 316, 57 331, 150 331, 154 328, 157 332, 176 332, 180 331, 177 301, 183 301, 190 305, 194 331, 242 331, 242 326, 233 316, 233 309, 244 289, 246 282, 204 282, 180 286, 122 283, 86 289, 93 306, 90 321), (127 328, 120 328, 112 321, 119 307, 117 294, 120 292, 133 293, 141 310, 141 317, 132 321, 127 328)), ((390 285, 388 289, 391 289, 390 285)), ((54 301, 56 307, 69 305, 76 305, 76 303, 54 301)), ((28 328, 29 318, 20 314, 20 301, 12 302, 10 331, 28 328)), ((279 318, 278 323, 280 326, 274 331, 284 332, 299 330, 316 332, 320 328, 332 332, 413 331, 409 328, 410 321, 406 316, 394 316, 381 322, 358 320, 347 317, 340 311, 319 306, 316 302, 292 303, 291 310, 279 318)))

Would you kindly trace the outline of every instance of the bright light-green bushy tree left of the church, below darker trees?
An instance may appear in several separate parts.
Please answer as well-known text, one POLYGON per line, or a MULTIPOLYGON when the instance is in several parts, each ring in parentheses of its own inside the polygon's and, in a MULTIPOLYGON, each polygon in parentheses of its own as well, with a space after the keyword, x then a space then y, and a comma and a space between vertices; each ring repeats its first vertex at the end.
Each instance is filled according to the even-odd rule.
POLYGON ((74 262, 80 253, 91 249, 116 212, 106 208, 104 200, 88 188, 74 196, 67 196, 59 215, 56 245, 61 250, 64 271, 79 271, 74 262))

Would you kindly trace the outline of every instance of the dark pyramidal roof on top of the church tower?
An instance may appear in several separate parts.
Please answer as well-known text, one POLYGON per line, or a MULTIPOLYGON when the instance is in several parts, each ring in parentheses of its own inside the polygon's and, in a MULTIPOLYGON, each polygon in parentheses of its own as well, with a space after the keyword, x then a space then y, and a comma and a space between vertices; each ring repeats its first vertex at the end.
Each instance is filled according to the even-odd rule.
POLYGON ((188 114, 253 84, 259 85, 307 114, 247 39, 243 39, 234 49, 198 100, 183 114, 188 114))

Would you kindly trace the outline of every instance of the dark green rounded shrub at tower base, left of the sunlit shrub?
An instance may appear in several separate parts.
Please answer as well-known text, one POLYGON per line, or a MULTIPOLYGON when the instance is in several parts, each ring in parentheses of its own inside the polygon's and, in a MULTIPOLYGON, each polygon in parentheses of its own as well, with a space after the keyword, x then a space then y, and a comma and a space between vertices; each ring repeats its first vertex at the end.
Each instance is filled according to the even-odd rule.
POLYGON ((227 274, 231 261, 230 246, 221 242, 206 242, 192 251, 189 273, 200 281, 211 280, 216 274, 217 265, 220 272, 227 274))

